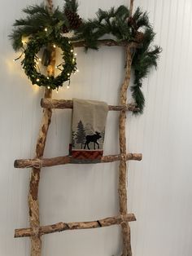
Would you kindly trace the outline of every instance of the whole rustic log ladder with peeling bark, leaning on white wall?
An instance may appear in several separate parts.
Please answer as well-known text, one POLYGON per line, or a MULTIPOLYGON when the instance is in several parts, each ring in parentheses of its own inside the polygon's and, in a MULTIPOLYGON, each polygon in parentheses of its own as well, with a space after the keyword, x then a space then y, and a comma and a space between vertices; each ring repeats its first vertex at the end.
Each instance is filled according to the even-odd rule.
MULTIPOLYGON (((52 0, 47 0, 50 11, 52 10, 52 0)), ((130 13, 133 11, 133 0, 130 0, 130 13)), ((116 42, 111 40, 101 40, 99 45, 113 46, 118 45, 116 42)), ((119 44, 122 46, 122 44, 119 44)), ((84 42, 74 43, 74 47, 84 46, 84 42)), ((41 99, 41 107, 43 108, 43 116, 41 120, 41 126, 39 135, 37 138, 36 146, 36 157, 34 159, 20 159, 15 160, 14 166, 16 168, 33 168, 31 173, 31 179, 29 183, 28 192, 28 213, 29 213, 29 224, 28 228, 15 229, 15 237, 30 236, 31 238, 31 256, 41 255, 41 236, 53 232, 62 232, 67 230, 75 229, 86 229, 95 227, 107 227, 111 225, 120 224, 122 228, 123 236, 123 252, 122 256, 131 256, 132 249, 130 244, 130 227, 129 222, 135 221, 134 214, 128 214, 127 209, 127 161, 129 160, 142 160, 142 154, 127 153, 126 149, 126 136, 125 136, 125 121, 126 112, 135 111, 136 106, 133 104, 127 104, 127 90, 130 81, 131 64, 132 64, 132 49, 137 47, 137 43, 129 43, 126 45, 126 72, 124 82, 120 88, 120 105, 111 106, 108 108, 110 111, 120 111, 119 119, 119 139, 120 139, 120 154, 104 156, 101 159, 102 163, 120 161, 119 167, 119 201, 120 201, 120 214, 115 217, 103 218, 96 221, 90 222, 78 222, 78 223, 55 223, 53 225, 41 226, 39 219, 39 205, 38 205, 38 187, 40 181, 41 167, 46 166, 57 166, 70 164, 72 157, 54 157, 54 158, 43 158, 44 148, 46 146, 46 136, 50 126, 52 108, 72 108, 72 100, 56 100, 51 99, 52 90, 45 89, 44 98, 41 99)), ((48 76, 54 75, 55 73, 55 48, 51 48, 52 55, 50 65, 47 68, 48 76)))

